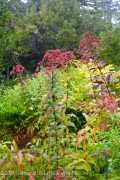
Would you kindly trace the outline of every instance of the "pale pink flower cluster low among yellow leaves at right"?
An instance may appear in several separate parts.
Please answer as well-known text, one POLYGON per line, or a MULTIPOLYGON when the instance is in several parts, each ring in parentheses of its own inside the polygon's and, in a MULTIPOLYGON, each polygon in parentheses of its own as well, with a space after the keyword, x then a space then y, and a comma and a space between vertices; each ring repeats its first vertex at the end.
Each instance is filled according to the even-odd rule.
POLYGON ((96 100, 96 105, 103 112, 110 112, 111 114, 117 110, 117 101, 108 94, 101 95, 101 98, 96 100))

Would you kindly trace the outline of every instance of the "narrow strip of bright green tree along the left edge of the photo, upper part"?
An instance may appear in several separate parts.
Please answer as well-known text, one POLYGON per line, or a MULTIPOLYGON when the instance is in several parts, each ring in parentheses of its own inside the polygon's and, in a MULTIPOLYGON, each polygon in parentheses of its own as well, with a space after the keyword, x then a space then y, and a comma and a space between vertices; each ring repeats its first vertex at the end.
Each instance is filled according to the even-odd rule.
POLYGON ((0 1, 0 76, 8 62, 7 51, 9 45, 9 36, 13 28, 13 14, 9 9, 7 0, 0 1))

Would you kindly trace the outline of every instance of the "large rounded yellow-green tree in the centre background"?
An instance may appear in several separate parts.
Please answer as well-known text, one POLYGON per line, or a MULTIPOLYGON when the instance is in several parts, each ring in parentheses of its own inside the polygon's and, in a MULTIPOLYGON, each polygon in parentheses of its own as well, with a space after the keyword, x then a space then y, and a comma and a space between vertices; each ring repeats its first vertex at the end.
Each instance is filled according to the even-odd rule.
POLYGON ((80 8, 76 0, 44 1, 37 12, 33 7, 15 26, 17 52, 51 48, 73 50, 79 44, 80 8))

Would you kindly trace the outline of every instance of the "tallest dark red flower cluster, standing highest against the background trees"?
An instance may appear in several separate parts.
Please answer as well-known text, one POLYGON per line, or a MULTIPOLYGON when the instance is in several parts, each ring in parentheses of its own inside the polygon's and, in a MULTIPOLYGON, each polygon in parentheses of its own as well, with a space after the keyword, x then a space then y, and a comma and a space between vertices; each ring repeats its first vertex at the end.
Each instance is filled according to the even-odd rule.
POLYGON ((102 45, 102 41, 97 39, 96 36, 91 36, 86 33, 84 39, 80 42, 78 54, 81 57, 81 62, 87 64, 91 59, 97 56, 97 48, 102 45))

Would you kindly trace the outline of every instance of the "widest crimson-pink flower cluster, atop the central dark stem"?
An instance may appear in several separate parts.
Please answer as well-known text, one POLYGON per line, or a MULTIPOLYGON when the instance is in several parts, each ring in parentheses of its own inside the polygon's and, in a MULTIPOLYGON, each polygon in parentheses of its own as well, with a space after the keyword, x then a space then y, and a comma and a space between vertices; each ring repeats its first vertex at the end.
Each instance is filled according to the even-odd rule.
POLYGON ((72 51, 62 53, 59 49, 56 50, 48 50, 43 60, 38 63, 38 67, 36 68, 36 72, 39 71, 40 66, 46 67, 46 72, 51 72, 57 67, 63 67, 69 64, 69 60, 75 60, 76 57, 72 51))

